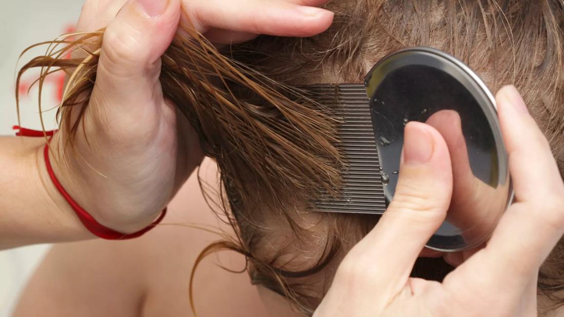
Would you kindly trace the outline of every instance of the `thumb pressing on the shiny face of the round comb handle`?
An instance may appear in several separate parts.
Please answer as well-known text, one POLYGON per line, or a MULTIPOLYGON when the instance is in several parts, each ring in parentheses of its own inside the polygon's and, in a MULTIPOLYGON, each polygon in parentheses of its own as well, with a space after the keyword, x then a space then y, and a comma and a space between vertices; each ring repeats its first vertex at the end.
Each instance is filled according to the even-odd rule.
POLYGON ((383 241, 392 241, 394 267, 411 272, 418 255, 446 217, 452 196, 448 147, 432 126, 410 122, 394 198, 378 223, 383 241))

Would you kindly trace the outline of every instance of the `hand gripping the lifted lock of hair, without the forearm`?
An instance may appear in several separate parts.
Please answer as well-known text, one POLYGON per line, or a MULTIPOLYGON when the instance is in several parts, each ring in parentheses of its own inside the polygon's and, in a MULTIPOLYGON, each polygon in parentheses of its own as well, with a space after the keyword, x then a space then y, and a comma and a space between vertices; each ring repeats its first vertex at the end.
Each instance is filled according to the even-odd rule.
MULTIPOLYGON (((59 162, 54 169, 63 186, 96 220, 133 232, 156 218, 202 159, 197 135, 163 98, 158 80, 160 56, 179 21, 227 43, 261 33, 312 36, 329 27, 333 14, 311 7, 326 2, 320 0, 124 2, 83 6, 79 32, 107 25, 96 82, 74 139, 77 154, 64 152, 65 135, 58 133, 51 160, 59 162)), ((79 112, 73 109, 75 117, 79 112)))

